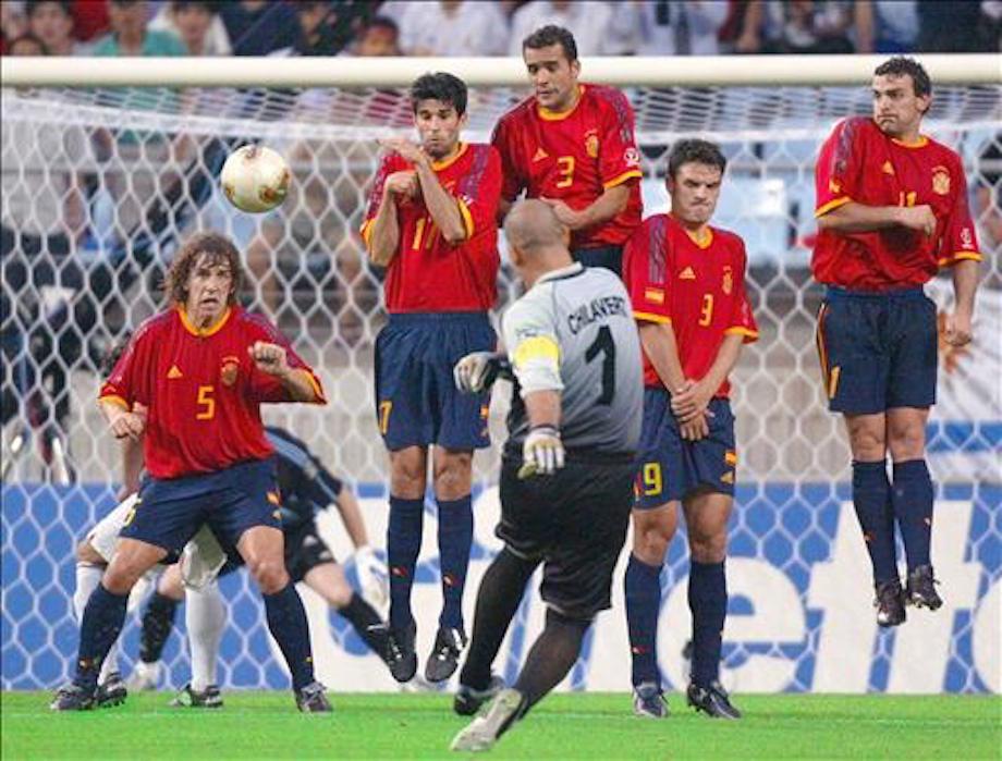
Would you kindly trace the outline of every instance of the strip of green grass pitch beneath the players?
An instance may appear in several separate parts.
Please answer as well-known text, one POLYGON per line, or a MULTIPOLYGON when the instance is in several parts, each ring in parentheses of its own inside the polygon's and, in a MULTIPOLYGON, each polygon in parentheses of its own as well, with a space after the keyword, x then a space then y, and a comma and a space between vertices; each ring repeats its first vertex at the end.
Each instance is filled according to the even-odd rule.
MULTIPOLYGON (((331 694, 334 713, 303 715, 290 692, 231 691, 220 711, 167 705, 168 692, 53 714, 49 692, 0 697, 2 757, 20 759, 447 759, 466 720, 447 695, 331 694)), ((998 696, 736 696, 741 722, 669 698, 665 721, 630 697, 559 694, 481 756, 491 759, 999 759, 998 696)))

